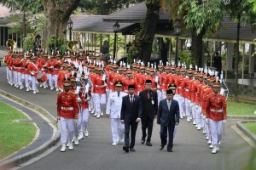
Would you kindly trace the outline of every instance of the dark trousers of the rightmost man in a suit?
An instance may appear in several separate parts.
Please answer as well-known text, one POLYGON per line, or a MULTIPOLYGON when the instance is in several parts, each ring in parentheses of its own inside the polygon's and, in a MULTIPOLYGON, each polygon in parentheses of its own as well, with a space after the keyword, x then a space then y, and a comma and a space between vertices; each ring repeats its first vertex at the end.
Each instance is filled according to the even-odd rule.
POLYGON ((167 133, 169 137, 169 142, 167 145, 167 150, 172 150, 173 145, 173 132, 174 132, 174 125, 164 126, 161 125, 160 127, 160 139, 161 139, 161 145, 166 145, 167 143, 167 133))

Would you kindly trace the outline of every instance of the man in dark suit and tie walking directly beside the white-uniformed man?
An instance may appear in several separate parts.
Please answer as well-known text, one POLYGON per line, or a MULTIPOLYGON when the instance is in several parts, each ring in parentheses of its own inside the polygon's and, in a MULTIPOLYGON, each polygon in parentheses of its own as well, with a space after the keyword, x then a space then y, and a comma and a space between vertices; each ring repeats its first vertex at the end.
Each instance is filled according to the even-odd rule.
POLYGON ((134 94, 135 86, 128 86, 128 95, 123 97, 121 109, 121 122, 125 123, 125 152, 135 151, 135 136, 137 131, 137 123, 141 121, 142 101, 139 96, 134 94), (130 143, 130 128, 131 128, 131 144, 130 143))

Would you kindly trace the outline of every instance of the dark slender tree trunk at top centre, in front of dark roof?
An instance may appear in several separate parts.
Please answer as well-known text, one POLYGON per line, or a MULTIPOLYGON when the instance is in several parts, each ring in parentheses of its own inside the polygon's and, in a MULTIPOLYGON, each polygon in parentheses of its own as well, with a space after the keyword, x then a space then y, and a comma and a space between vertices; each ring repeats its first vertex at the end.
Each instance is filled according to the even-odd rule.
POLYGON ((147 14, 143 26, 143 43, 141 45, 144 63, 148 63, 152 53, 152 44, 154 41, 154 33, 156 31, 156 23, 159 19, 160 2, 159 0, 147 0, 146 6, 147 14))

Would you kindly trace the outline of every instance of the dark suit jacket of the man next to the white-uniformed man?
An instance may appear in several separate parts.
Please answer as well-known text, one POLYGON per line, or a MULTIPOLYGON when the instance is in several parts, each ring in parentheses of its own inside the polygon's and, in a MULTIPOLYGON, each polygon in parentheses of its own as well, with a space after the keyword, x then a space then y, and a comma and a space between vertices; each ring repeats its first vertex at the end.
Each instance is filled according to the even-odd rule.
POLYGON ((131 105, 130 95, 123 97, 121 118, 125 123, 135 122, 137 118, 142 117, 142 101, 139 96, 134 95, 134 101, 131 105))

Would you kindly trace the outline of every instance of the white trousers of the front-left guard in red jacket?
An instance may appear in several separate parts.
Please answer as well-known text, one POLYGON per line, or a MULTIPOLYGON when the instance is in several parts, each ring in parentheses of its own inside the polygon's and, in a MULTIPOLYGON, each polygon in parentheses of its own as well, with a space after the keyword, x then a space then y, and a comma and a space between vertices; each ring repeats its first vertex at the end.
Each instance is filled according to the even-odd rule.
POLYGON ((61 117, 61 144, 73 139, 73 119, 61 117))

